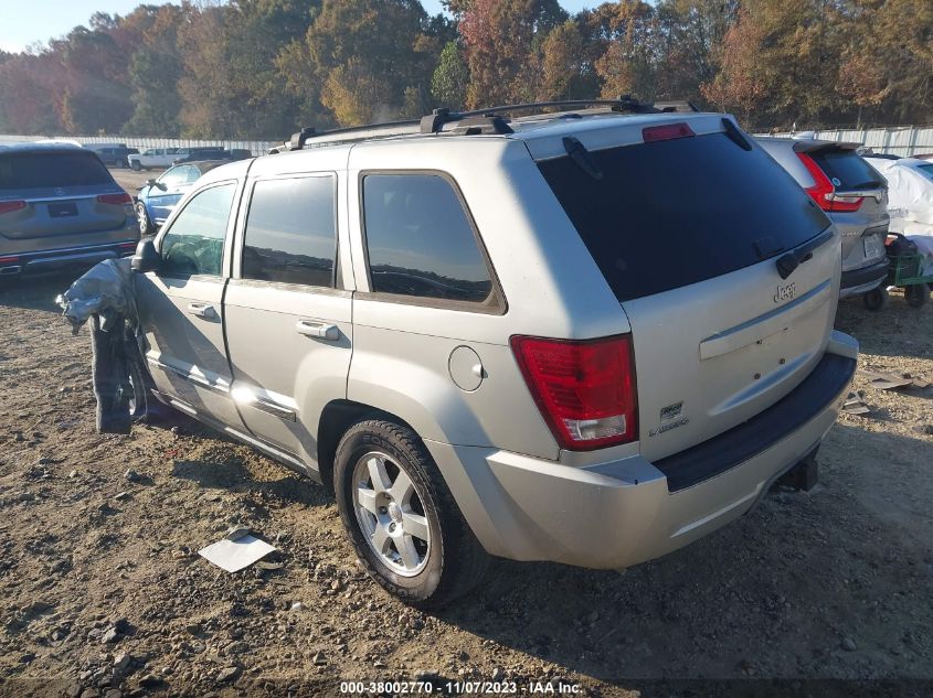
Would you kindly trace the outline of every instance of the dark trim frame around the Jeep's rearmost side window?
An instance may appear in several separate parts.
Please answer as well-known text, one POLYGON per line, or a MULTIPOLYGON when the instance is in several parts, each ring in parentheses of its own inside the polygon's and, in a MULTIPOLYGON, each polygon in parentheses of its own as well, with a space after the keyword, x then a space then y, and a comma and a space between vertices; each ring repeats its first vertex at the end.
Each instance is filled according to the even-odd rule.
POLYGON ((360 238, 362 241, 363 247, 363 267, 365 269, 365 281, 367 281, 367 290, 365 291, 357 291, 357 297, 361 300, 373 300, 386 303, 399 303, 402 305, 416 305, 422 308, 439 308, 446 310, 456 310, 456 311, 464 311, 464 312, 474 312, 484 315, 505 315, 508 312, 508 301, 506 300, 506 294, 502 292, 501 283, 499 283, 499 276, 496 273, 496 267, 492 265, 492 260, 489 258, 489 253, 486 249, 486 244, 483 241, 483 236, 479 234, 479 228, 476 225, 476 221, 473 217, 473 212, 469 208, 469 204, 467 203, 466 198, 464 197, 463 192, 460 191, 459 184, 454 179, 454 176, 449 172, 445 172, 443 170, 432 170, 432 169, 413 169, 413 170, 405 170, 405 169, 372 169, 372 170, 360 170, 359 179, 357 181, 357 198, 359 202, 360 207, 360 238), (484 302, 474 302, 474 301, 458 301, 458 300, 450 300, 444 298, 431 298, 425 296, 406 296, 403 293, 386 293, 384 291, 373 291, 372 288, 372 270, 370 268, 369 261, 369 238, 367 237, 367 210, 365 210, 365 195, 363 192, 363 183, 369 175, 427 175, 427 176, 439 176, 443 179, 447 184, 450 185, 450 189, 454 191, 454 195, 457 197, 457 201, 460 204, 460 210, 464 213, 466 218, 467 225, 469 225, 470 230, 473 232, 473 239, 476 243, 476 247, 479 250, 479 256, 483 259, 483 264, 486 266, 486 272, 489 275, 489 281, 491 282, 491 290, 490 294, 495 298, 495 303, 487 304, 484 302))

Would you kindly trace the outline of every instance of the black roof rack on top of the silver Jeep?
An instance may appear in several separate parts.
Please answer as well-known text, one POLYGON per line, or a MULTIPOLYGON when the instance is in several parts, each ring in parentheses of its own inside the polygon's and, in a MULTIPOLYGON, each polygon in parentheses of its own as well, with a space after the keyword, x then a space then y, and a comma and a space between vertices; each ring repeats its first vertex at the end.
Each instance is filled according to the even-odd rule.
MULTIPOLYGON (((664 103, 665 105, 674 103, 664 103)), ((680 104, 680 103, 677 103, 680 104)), ((683 104, 696 107, 690 103, 683 104)), ((389 138, 392 136, 410 136, 415 133, 441 133, 446 125, 454 125, 446 129, 453 133, 465 133, 467 136, 479 133, 512 133, 509 126, 509 118, 505 115, 513 111, 533 111, 552 108, 574 107, 608 107, 612 111, 632 111, 635 114, 659 114, 662 109, 656 106, 638 101, 630 95, 619 95, 616 99, 562 99, 556 101, 529 101, 515 105, 500 105, 473 109, 470 111, 450 111, 447 108, 434 109, 430 115, 421 119, 405 121, 391 121, 389 124, 369 124, 365 126, 351 126, 347 128, 332 129, 330 131, 316 131, 312 127, 305 127, 283 146, 272 148, 269 154, 289 150, 301 150, 307 146, 325 146, 337 142, 354 142, 373 138, 389 138)), ((664 111, 674 109, 665 108, 664 111)))

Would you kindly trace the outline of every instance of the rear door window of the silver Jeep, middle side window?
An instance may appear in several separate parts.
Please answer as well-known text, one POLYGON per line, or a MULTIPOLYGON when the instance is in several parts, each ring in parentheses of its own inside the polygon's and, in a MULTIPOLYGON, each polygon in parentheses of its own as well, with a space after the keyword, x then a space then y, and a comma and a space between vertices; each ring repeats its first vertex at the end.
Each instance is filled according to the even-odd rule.
POLYGON ((243 244, 243 278, 332 286, 333 178, 256 182, 243 244))

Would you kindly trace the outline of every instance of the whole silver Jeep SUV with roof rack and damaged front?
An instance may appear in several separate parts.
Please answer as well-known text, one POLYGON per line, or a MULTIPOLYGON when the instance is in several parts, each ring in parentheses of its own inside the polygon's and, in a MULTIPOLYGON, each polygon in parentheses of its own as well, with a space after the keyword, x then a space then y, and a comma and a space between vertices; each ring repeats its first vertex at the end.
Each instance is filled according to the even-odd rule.
POLYGON ((812 484, 858 354, 838 234, 731 117, 627 110, 209 172, 134 258, 156 394, 332 487, 422 606, 489 556, 624 568, 812 484))

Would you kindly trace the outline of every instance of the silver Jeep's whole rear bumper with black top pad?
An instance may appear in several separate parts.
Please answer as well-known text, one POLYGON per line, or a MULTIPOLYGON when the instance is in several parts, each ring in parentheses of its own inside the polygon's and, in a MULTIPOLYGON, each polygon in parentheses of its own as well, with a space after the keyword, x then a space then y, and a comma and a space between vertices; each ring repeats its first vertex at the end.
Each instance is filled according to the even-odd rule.
POLYGON ((748 512, 833 426, 857 355, 855 340, 834 332, 817 368, 751 420, 755 425, 667 463, 634 455, 573 468, 495 449, 426 445, 490 554, 619 569, 670 552, 748 512))

